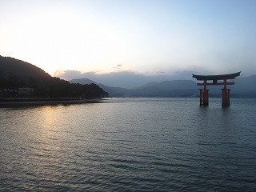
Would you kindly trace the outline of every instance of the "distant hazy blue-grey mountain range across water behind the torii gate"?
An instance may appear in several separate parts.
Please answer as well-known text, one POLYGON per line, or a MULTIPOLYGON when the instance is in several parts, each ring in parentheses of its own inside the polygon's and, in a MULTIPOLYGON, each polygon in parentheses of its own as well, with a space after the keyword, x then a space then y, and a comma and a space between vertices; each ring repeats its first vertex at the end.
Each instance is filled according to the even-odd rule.
MULTIPOLYGON (((85 82, 88 81, 85 80, 85 82)), ((71 82, 83 82, 82 79, 73 79, 71 82)), ((90 81, 89 81, 90 82, 90 81)), ((234 86, 228 86, 231 97, 256 97, 256 75, 246 78, 235 78, 234 86)), ((198 97, 202 86, 191 80, 173 80, 163 82, 149 82, 133 89, 111 87, 98 84, 112 97, 198 97)), ((221 97, 223 86, 207 86, 210 97, 221 97)))

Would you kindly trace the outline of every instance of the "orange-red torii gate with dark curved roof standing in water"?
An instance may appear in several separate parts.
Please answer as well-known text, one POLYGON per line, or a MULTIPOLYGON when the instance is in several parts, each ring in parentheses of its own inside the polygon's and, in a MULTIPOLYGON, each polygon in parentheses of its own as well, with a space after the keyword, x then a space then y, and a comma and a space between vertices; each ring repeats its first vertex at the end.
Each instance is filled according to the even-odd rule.
POLYGON ((234 85, 234 82, 227 82, 229 79, 234 79, 240 75, 241 71, 235 74, 219 74, 219 75, 197 75, 192 74, 193 78, 196 78, 198 81, 203 81, 202 83, 198 83, 198 86, 203 86, 203 89, 200 90, 200 106, 208 106, 209 105, 209 90, 207 90, 207 86, 219 86, 224 85, 222 89, 222 106, 230 106, 230 90, 226 89, 227 85, 234 85), (207 81, 213 82, 207 82, 207 81), (222 80, 223 82, 218 82, 222 80))

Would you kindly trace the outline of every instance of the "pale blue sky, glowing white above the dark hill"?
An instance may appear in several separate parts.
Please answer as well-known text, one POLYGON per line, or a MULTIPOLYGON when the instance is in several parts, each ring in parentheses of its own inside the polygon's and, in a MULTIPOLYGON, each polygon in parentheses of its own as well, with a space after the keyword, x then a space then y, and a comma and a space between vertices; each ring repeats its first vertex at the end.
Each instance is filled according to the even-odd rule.
POLYGON ((49 74, 256 74, 254 0, 3 0, 0 55, 49 74))

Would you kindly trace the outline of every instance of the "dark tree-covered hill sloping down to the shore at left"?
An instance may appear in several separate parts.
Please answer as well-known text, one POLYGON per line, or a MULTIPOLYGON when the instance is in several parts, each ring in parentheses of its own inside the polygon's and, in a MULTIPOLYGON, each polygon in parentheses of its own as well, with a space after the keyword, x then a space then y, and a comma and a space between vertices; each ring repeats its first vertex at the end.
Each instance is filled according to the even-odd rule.
MULTIPOLYGON (((94 83, 73 84, 53 78, 28 62, 0 56, 0 98, 24 97, 18 90, 33 90, 37 98, 100 98, 107 93, 94 83)), ((25 95, 26 97, 28 95, 25 95)))

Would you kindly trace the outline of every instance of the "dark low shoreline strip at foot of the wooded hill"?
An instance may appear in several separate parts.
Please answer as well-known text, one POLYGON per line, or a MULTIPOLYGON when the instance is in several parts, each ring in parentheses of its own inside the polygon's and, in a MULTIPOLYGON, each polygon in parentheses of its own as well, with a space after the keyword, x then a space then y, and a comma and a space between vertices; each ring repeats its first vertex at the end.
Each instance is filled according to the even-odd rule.
POLYGON ((101 101, 102 98, 0 98, 0 107, 70 105, 101 101))

